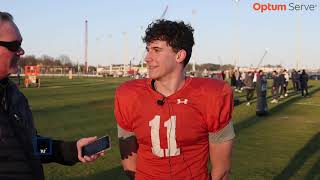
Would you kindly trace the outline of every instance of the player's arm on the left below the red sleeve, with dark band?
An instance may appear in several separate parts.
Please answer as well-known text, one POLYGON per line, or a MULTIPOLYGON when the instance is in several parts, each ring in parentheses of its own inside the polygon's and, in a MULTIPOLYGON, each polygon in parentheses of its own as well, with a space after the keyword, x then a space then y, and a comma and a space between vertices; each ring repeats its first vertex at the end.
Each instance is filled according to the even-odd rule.
POLYGON ((134 180, 138 142, 135 134, 124 130, 118 125, 119 148, 123 169, 130 180, 134 180))

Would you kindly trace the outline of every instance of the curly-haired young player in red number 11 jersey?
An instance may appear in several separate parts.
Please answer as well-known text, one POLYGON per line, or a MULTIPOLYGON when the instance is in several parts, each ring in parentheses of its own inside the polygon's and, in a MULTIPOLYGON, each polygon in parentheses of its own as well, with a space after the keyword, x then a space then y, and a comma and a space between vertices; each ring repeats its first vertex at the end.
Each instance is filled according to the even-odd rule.
POLYGON ((235 137, 231 87, 185 76, 194 45, 190 25, 157 20, 143 41, 149 78, 122 84, 115 96, 125 172, 136 180, 227 179, 235 137))

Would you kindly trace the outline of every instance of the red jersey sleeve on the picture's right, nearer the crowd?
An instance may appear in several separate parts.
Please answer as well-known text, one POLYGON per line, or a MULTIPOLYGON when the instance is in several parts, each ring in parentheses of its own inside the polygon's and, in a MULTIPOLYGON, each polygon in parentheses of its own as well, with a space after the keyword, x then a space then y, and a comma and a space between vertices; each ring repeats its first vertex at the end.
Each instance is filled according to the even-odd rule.
POLYGON ((207 103, 206 122, 209 133, 216 133, 226 127, 232 118, 233 91, 228 84, 224 84, 222 90, 212 92, 207 103))

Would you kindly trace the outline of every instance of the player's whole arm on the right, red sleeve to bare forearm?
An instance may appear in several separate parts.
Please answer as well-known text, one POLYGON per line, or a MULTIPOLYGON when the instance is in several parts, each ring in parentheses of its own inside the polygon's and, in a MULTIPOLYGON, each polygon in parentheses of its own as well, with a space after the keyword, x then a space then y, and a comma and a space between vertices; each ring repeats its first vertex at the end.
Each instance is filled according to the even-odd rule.
POLYGON ((224 84, 220 96, 212 98, 209 102, 207 122, 211 178, 225 180, 228 179, 231 169, 231 152, 235 137, 231 120, 234 108, 232 88, 224 84))

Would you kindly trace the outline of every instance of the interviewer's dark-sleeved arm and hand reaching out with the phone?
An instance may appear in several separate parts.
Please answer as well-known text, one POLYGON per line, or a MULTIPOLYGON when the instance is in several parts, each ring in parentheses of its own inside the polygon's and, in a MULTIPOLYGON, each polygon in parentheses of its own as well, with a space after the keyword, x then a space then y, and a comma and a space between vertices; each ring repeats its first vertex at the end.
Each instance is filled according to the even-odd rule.
MULTIPOLYGON (((37 130, 34 128, 33 115, 32 115, 27 98, 19 91, 16 84, 14 84, 12 81, 8 80, 8 84, 9 85, 7 87, 8 88, 7 92, 9 92, 9 94, 7 95, 8 97, 7 102, 8 104, 10 104, 10 107, 9 107, 10 112, 18 112, 17 114, 21 114, 23 119, 26 120, 26 123, 24 123, 24 125, 28 127, 28 128, 25 128, 25 127, 23 128, 23 130, 27 130, 27 131, 21 131, 19 133, 16 133, 19 135, 22 134, 21 136, 23 137, 21 138, 19 137, 21 141, 25 142, 25 144, 28 144, 30 142, 30 139, 29 139, 30 137, 33 143, 32 145, 34 145, 35 143, 34 141, 38 141, 38 139, 49 141, 47 143, 44 143, 45 144, 44 146, 47 146, 47 145, 49 146, 49 144, 51 144, 51 147, 44 147, 44 149, 46 149, 46 151, 44 152, 45 153, 44 155, 41 154, 40 150, 35 149, 37 147, 32 147, 32 145, 29 146, 28 144, 27 147, 24 147, 28 151, 33 151, 34 155, 39 155, 42 163, 56 162, 63 165, 73 165, 80 161, 91 162, 91 161, 94 161, 99 156, 104 155, 103 154, 104 152, 102 151, 92 156, 84 156, 84 157, 81 156, 82 147, 95 141, 97 139, 96 137, 82 138, 77 141, 67 142, 67 141, 61 141, 61 140, 52 140, 50 138, 41 137, 37 135, 37 130), (34 134, 36 135, 34 136, 34 134), (26 141, 24 139, 26 139, 26 141), (50 153, 47 153, 47 151, 50 151, 50 153)), ((12 117, 14 117, 15 119, 17 118, 21 119, 16 114, 14 114, 14 116, 12 117)), ((15 125, 13 126, 15 127, 14 129, 17 129, 15 125)))

